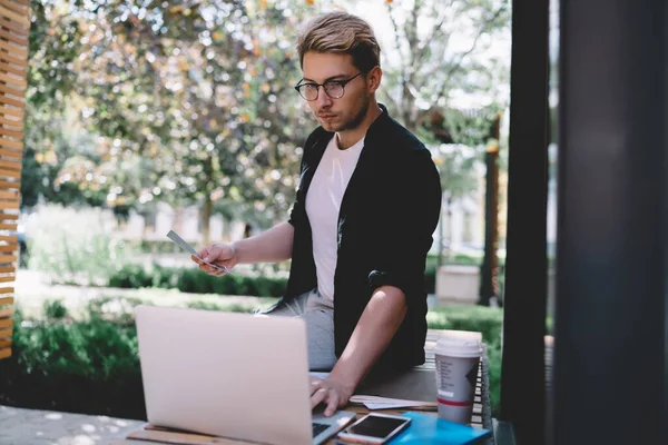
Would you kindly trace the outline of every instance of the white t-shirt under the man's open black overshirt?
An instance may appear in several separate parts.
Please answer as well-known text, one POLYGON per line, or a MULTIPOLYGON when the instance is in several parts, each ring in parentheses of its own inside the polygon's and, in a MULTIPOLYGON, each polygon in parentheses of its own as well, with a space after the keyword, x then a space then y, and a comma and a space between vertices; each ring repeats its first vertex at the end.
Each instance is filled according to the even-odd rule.
POLYGON ((313 235, 317 289, 323 297, 332 300, 334 299, 338 210, 363 147, 364 138, 354 146, 341 150, 338 137, 334 136, 323 154, 306 192, 306 215, 313 235))

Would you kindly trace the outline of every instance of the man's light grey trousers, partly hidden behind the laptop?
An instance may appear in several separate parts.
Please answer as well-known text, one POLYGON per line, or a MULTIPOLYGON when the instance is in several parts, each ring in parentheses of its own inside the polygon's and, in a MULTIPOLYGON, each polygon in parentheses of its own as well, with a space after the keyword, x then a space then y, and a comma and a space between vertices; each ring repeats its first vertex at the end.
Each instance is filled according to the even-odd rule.
POLYGON ((263 315, 301 317, 306 322, 310 370, 332 370, 334 354, 334 301, 313 289, 289 301, 262 312, 263 315))

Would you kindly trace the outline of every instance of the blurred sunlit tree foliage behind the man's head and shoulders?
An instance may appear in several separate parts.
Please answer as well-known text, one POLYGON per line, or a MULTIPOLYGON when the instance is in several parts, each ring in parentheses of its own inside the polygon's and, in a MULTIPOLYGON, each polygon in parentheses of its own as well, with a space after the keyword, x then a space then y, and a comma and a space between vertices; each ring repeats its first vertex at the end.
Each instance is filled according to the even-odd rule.
MULTIPOLYGON (((296 31, 317 12, 371 6, 381 101, 430 145, 475 147, 456 164, 469 168, 505 106, 508 60, 489 52, 508 31, 505 1, 32 0, 22 206, 122 218, 195 205, 206 240, 214 214, 284 219, 315 127, 292 89, 296 31), (462 95, 484 103, 461 110, 462 95)), ((443 176, 464 196, 478 186, 443 176)))

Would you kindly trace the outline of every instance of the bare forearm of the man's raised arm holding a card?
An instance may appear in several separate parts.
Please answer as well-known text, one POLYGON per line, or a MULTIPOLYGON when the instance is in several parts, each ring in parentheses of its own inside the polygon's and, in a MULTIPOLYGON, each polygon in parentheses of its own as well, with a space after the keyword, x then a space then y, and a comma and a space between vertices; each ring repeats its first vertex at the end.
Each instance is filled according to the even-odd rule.
POLYGON ((289 222, 279 222, 250 238, 234 243, 237 263, 279 263, 292 258, 295 229, 289 222))

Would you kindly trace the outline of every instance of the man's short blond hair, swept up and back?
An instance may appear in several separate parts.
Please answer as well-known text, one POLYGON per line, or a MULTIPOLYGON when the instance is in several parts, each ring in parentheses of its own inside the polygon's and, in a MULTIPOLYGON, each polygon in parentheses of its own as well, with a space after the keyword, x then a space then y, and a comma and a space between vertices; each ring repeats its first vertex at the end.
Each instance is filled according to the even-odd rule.
POLYGON ((312 19, 297 38, 299 65, 308 51, 345 53, 362 72, 381 65, 381 47, 371 26, 343 11, 327 12, 312 19))

